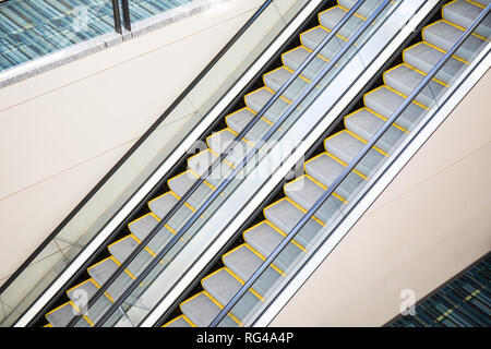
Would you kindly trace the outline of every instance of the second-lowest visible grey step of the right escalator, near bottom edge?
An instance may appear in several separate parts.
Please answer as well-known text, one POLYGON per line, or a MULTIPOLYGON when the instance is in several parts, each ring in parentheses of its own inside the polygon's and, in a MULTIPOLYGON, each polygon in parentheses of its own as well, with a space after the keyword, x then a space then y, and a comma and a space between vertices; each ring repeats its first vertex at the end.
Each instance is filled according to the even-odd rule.
MULTIPOLYGON (((221 306, 213 300, 207 292, 200 292, 194 297, 182 302, 179 308, 181 312, 197 327, 207 327, 218 315, 221 306)), ((220 326, 237 327, 238 324, 228 314, 220 323, 220 326)))

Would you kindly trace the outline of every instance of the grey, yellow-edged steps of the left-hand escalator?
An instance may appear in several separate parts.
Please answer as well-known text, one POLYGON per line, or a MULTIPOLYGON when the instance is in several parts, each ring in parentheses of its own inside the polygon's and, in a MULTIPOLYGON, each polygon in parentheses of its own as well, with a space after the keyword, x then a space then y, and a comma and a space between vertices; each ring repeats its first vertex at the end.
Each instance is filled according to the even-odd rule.
MULTIPOLYGON (((276 100, 263 117, 255 123, 254 128, 248 133, 248 137, 243 137, 240 143, 244 149, 249 149, 255 145, 262 135, 278 120, 278 118, 292 104, 292 100, 299 97, 302 91, 315 79, 320 71, 325 68, 335 57, 348 38, 367 21, 367 17, 379 7, 381 1, 367 1, 359 7, 359 10, 352 15, 351 21, 347 25, 340 27, 334 39, 328 41, 322 51, 312 60, 292 84, 276 100)), ((77 308, 77 299, 80 294, 85 294, 91 299, 100 289, 111 275, 120 267, 121 263, 136 249, 139 244, 148 236, 148 233, 157 227, 159 221, 171 212, 179 200, 185 195, 191 186, 203 177, 203 172, 208 166, 219 158, 225 147, 230 144, 233 139, 251 122, 263 107, 272 99, 277 91, 292 76, 294 72, 299 69, 309 55, 315 50, 323 39, 325 39, 331 31, 342 21, 348 11, 356 4, 356 1, 340 0, 336 5, 319 12, 313 16, 308 29, 303 31, 298 40, 295 40, 288 49, 280 52, 279 59, 271 71, 262 76, 263 86, 247 93, 243 96, 243 107, 227 115, 224 118, 226 128, 214 132, 206 137, 207 148, 189 157, 187 159, 187 169, 180 173, 172 176, 164 185, 161 194, 152 198, 147 203, 147 213, 135 217, 128 225, 128 234, 121 237, 117 241, 108 244, 107 254, 89 267, 87 275, 89 278, 82 279, 67 290, 68 300, 46 313, 46 326, 67 326, 72 325, 74 314, 80 312, 77 308), (295 45, 298 43, 299 45, 295 45)), ((322 84, 320 84, 322 87, 322 84)), ((318 88, 319 88, 318 87, 318 88)), ((191 195, 183 205, 181 205, 177 219, 170 219, 165 224, 164 229, 158 236, 146 244, 137 258, 124 268, 116 282, 112 282, 104 291, 104 297, 99 297, 96 306, 92 308, 91 315, 84 315, 77 320, 77 326, 94 326, 96 320, 110 306, 110 304, 121 297, 123 290, 139 275, 148 261, 155 258, 158 251, 165 246, 172 237, 181 229, 182 224, 189 219, 196 209, 203 204, 216 186, 220 183, 224 174, 230 173, 235 165, 242 159, 243 153, 225 158, 217 170, 213 171, 203 185, 191 195), (215 173, 218 173, 214 177, 215 173), (217 178, 218 180, 214 179, 217 178)), ((204 219, 204 217, 202 217, 204 219)), ((183 244, 185 239, 181 239, 179 243, 183 244)), ((100 292, 100 291, 99 291, 100 292)), ((63 299, 61 298, 61 299, 63 299)), ((43 324, 43 322, 39 322, 43 324)))

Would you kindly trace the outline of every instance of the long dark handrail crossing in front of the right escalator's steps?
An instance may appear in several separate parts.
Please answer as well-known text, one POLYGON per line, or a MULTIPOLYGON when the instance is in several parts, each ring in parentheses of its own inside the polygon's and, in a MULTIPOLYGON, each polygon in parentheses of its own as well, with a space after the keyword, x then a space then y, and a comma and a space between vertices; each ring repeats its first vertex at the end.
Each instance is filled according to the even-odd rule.
MULTIPOLYGON (((322 194, 322 196, 315 202, 315 204, 306 213, 306 215, 297 222, 291 231, 285 237, 282 243, 274 249, 270 256, 264 260, 261 266, 252 274, 252 276, 242 285, 232 299, 220 310, 218 315, 209 324, 209 327, 216 327, 224 320, 225 316, 231 311, 231 309, 239 302, 239 300, 249 291, 254 282, 261 277, 261 275, 267 269, 267 267, 274 262, 279 253, 295 239, 296 234, 303 228, 303 226, 312 218, 316 210, 327 201, 334 191, 340 183, 348 177, 355 167, 363 159, 363 157, 372 149, 376 142, 385 134, 385 132, 392 127, 397 118, 411 105, 415 98, 421 93, 421 91, 433 80, 436 73, 442 67, 452 58, 458 48, 465 43, 465 40, 472 35, 476 27, 484 20, 491 10, 491 4, 482 10, 479 16, 472 22, 472 24, 464 32, 459 39, 452 46, 452 48, 442 57, 442 59, 432 68, 432 70, 424 76, 424 79, 418 84, 412 93, 404 100, 404 103, 394 111, 382 128, 375 133, 375 135, 368 142, 361 152, 349 163, 349 165, 343 170, 343 172, 334 180, 330 188, 322 194)), ((332 233, 332 232, 331 232, 332 233)))

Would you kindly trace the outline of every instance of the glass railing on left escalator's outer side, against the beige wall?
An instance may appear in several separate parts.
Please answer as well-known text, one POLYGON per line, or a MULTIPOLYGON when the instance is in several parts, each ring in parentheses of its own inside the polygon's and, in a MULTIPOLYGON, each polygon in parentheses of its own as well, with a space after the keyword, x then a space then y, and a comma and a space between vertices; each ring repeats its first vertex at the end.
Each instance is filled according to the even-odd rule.
MULTIPOLYGON (((0 293, 5 310, 0 314, 1 326, 14 324, 71 266, 307 4, 307 0, 268 0, 258 10, 191 86, 5 281, 0 293)), ((0 8, 3 5, 0 3, 0 8)))

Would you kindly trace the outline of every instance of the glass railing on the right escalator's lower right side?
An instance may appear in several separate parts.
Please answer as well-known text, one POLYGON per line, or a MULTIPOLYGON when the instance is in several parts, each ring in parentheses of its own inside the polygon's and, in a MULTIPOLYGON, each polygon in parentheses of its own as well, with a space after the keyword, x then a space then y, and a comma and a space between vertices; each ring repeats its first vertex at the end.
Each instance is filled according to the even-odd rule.
MULTIPOLYGON (((390 165, 391 157, 396 152, 404 151, 415 133, 421 130, 424 124, 435 115, 440 107, 450 98, 456 87, 459 86, 462 77, 465 77, 472 68, 476 57, 488 55, 490 51, 489 38, 477 36, 475 33, 486 33, 484 20, 489 23, 489 4, 475 22, 463 32, 459 39, 442 55, 440 61, 433 69, 423 74, 416 84, 412 92, 398 105, 395 111, 384 122, 381 122, 379 130, 372 130, 372 134, 364 141, 364 146, 360 153, 347 161, 347 166, 339 176, 332 182, 328 189, 316 200, 315 204, 308 210, 303 218, 298 221, 295 228, 287 233, 285 239, 278 243, 277 248, 268 255, 262 265, 252 274, 250 279, 244 280, 244 285, 236 293, 228 304, 224 304, 223 310, 211 323, 211 326, 229 326, 230 316, 236 313, 247 314, 242 318, 242 325, 251 326, 282 293, 285 287, 291 281, 296 274, 302 268, 309 258, 325 243, 336 230, 336 227, 349 214, 351 208, 363 197, 370 186, 384 173, 390 165), (481 24, 481 27, 479 25, 481 24), (483 31, 479 31, 479 28, 483 31), (471 52, 469 52, 469 48, 471 52), (459 53, 466 52, 466 60, 459 53), (456 69, 458 67, 458 69, 456 69), (453 76, 450 76, 452 72, 453 76), (446 75, 443 83, 440 76, 446 75), (350 188, 351 192, 345 196, 346 201, 338 200, 340 190, 350 188), (324 226, 309 224, 313 217, 330 217, 324 226), (303 253, 292 257, 285 249, 296 237, 309 234, 312 240, 304 245, 303 253), (279 262, 282 261, 282 262, 279 262), (285 265, 289 261, 284 275, 272 280, 271 273, 266 273, 272 265, 285 265), (262 301, 258 301, 251 306, 250 299, 246 297, 249 290, 262 289, 267 285, 267 290, 262 293, 262 301)), ((302 190, 299 185, 298 190, 302 190)))

